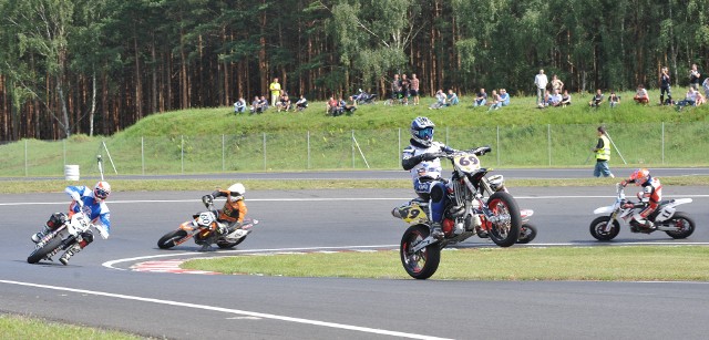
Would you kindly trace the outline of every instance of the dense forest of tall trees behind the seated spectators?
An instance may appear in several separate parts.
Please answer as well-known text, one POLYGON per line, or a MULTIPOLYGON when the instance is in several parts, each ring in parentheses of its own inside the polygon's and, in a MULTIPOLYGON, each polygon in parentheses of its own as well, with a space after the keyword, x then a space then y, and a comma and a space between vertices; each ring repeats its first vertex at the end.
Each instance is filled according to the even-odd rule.
POLYGON ((267 95, 276 76, 321 100, 387 95, 394 73, 417 73, 423 95, 513 96, 540 68, 584 92, 657 87, 664 65, 676 86, 691 63, 709 73, 709 0, 0 0, 0 141, 110 135, 267 95))

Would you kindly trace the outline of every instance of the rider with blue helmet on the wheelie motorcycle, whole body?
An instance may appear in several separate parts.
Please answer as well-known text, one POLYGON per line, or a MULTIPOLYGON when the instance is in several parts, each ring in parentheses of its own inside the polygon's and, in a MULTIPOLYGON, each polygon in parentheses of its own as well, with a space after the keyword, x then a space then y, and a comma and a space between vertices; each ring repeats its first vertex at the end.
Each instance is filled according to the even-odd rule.
POLYGON ((411 172, 413 189, 423 199, 429 199, 431 236, 442 238, 441 223, 446 203, 445 181, 441 177, 442 154, 455 152, 443 143, 433 142, 435 124, 428 117, 417 117, 411 122, 411 145, 402 153, 401 166, 411 172))

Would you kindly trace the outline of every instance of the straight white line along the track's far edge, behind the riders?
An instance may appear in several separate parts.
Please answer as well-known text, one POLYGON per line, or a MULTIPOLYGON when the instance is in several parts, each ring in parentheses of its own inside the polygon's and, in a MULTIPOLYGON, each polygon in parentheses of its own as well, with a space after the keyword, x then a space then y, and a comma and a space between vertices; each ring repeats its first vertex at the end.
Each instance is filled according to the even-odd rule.
MULTIPOLYGON (((514 196, 516 199, 564 199, 564 198, 615 198, 615 195, 552 195, 552 196, 514 196)), ((687 197, 687 198, 706 198, 709 195, 665 195, 664 197, 687 197)), ((352 200, 411 200, 411 197, 322 197, 322 198, 248 198, 248 202, 352 202, 352 200)), ((193 203, 201 199, 123 199, 109 200, 107 204, 135 204, 135 203, 193 203)), ((12 202, 0 203, 0 206, 22 206, 22 205, 68 205, 69 200, 63 202, 12 202)))

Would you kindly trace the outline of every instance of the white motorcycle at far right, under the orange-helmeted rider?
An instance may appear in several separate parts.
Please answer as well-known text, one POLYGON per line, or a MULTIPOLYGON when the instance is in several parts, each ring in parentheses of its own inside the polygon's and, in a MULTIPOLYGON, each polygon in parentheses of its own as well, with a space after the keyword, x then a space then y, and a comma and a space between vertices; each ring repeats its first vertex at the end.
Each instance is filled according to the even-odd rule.
POLYGON ((689 217, 687 213, 677 212, 675 207, 691 202, 691 198, 660 200, 657 209, 647 217, 647 219, 654 224, 653 227, 648 228, 631 223, 633 215, 644 207, 641 205, 626 207, 627 203, 633 204, 633 202, 625 198, 625 187, 623 185, 616 185, 616 202, 613 205, 599 207, 594 210, 596 215, 608 215, 597 217, 590 223, 590 235, 597 240, 612 240, 618 236, 620 221, 623 221, 630 226, 631 233, 650 234, 654 231, 665 231, 669 237, 675 239, 687 238, 695 233, 695 220, 689 217))

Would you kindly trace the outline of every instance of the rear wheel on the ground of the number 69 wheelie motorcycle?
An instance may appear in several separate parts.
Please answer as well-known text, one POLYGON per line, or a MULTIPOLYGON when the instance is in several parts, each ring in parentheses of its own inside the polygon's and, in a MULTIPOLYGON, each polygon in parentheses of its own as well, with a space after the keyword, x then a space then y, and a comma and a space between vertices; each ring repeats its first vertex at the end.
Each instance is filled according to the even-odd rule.
POLYGON ((419 251, 411 250, 427 237, 429 237, 429 227, 427 225, 411 226, 401 237, 399 247, 401 264, 409 276, 414 279, 428 279, 439 269, 441 248, 439 248, 438 243, 429 245, 419 251))

